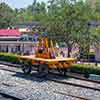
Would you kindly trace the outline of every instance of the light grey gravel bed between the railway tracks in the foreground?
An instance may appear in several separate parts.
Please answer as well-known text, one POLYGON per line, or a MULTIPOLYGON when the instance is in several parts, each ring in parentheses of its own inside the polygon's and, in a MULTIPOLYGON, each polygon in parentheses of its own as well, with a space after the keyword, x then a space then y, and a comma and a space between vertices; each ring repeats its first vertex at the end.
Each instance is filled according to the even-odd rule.
MULTIPOLYGON (((0 68, 2 67, 8 68, 1 65, 0 68)), ((89 100, 100 100, 99 91, 37 79, 23 75, 20 69, 10 67, 9 69, 17 70, 17 73, 0 70, 0 90, 18 96, 23 100, 81 100, 68 96, 69 94, 85 97, 89 100)), ((79 82, 74 79, 69 81, 79 82)), ((83 81, 79 83, 86 84, 83 81)), ((97 84, 93 83, 93 86, 97 86, 97 84)), ((99 88, 99 85, 97 87, 99 88)))

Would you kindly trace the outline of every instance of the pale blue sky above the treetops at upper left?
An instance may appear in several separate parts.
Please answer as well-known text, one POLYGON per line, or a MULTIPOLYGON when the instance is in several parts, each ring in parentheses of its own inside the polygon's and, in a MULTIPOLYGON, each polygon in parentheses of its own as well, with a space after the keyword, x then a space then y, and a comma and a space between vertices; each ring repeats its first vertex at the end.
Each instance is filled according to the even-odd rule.
MULTIPOLYGON (((34 0, 0 0, 0 2, 6 2, 12 8, 24 8, 32 4, 34 0)), ((48 0, 37 0, 37 2, 47 2, 48 0)))

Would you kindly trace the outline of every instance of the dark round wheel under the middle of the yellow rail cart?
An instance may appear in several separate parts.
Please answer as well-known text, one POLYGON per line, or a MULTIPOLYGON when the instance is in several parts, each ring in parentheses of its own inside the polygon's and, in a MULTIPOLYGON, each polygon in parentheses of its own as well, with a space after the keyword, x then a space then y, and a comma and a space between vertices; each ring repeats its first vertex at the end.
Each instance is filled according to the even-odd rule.
POLYGON ((46 76, 48 74, 48 65, 46 64, 41 64, 38 67, 38 72, 41 76, 46 76))

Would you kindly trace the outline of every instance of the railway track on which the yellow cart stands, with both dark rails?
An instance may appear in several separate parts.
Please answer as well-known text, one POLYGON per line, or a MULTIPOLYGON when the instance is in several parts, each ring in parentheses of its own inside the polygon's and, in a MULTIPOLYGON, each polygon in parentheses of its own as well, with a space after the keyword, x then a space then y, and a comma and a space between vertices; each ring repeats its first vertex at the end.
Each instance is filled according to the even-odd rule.
MULTIPOLYGON (((13 72, 13 73, 17 72, 17 71, 13 71, 11 69, 9 70, 9 69, 4 69, 4 68, 2 68, 1 70, 13 72)), ((44 78, 44 77, 41 77, 38 74, 37 75, 32 75, 32 77, 44 78)), ((71 75, 71 74, 68 74, 67 76, 64 76, 64 75, 61 75, 61 74, 58 74, 58 73, 50 72, 50 74, 47 77, 45 77, 46 80, 50 80, 50 81, 53 81, 53 82, 56 82, 56 83, 65 84, 65 85, 73 85, 73 86, 76 86, 76 87, 81 87, 81 88, 87 88, 87 89, 100 91, 100 88, 95 88, 95 87, 91 87, 91 86, 86 86, 86 85, 71 83, 71 82, 67 82, 67 81, 62 81, 62 80, 60 80, 62 78, 63 79, 75 78, 75 79, 83 80, 83 81, 86 81, 86 82, 92 82, 92 83, 100 84, 100 81, 91 80, 91 79, 87 79, 87 78, 84 78, 84 77, 79 77, 77 75, 71 75)))

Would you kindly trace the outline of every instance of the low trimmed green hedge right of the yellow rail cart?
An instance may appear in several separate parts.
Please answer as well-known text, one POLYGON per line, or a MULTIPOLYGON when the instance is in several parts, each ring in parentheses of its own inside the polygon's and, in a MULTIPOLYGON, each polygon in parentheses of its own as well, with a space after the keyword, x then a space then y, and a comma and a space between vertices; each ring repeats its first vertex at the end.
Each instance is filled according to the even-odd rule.
POLYGON ((100 75, 100 67, 76 64, 71 68, 72 72, 82 73, 82 74, 97 74, 100 75))

